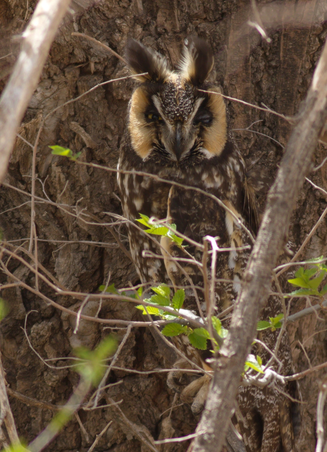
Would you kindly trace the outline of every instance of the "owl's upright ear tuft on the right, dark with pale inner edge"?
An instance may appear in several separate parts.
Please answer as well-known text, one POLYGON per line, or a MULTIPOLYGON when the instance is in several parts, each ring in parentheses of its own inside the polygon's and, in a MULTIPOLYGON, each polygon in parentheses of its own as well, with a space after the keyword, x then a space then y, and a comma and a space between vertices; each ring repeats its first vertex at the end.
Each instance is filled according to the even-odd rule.
POLYGON ((185 39, 185 47, 180 61, 180 72, 193 85, 202 85, 213 68, 213 52, 203 39, 185 39))

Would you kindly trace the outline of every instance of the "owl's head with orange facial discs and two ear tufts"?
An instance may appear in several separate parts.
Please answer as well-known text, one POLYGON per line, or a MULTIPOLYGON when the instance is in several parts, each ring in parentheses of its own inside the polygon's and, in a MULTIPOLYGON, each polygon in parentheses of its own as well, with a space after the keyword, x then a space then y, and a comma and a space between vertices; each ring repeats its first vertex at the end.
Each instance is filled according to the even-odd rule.
POLYGON ((128 132, 142 160, 156 153, 176 162, 220 155, 227 141, 226 107, 220 88, 208 81, 213 53, 199 38, 185 40, 178 69, 158 52, 130 39, 126 60, 141 82, 133 92, 128 132))

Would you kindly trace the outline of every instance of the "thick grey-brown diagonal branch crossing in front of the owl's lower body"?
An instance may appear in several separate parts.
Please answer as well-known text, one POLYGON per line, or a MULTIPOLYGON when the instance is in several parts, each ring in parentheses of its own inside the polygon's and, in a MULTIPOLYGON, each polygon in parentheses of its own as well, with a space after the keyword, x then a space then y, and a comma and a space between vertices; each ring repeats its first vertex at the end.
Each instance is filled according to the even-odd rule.
POLYGON ((190 446, 192 452, 218 452, 223 446, 240 374, 251 342, 256 321, 267 299, 271 272, 286 240, 289 219, 311 157, 327 118, 327 43, 322 50, 312 84, 294 128, 273 186, 256 244, 243 276, 229 334, 219 357, 211 365, 215 373, 206 407, 197 427, 199 436, 190 446), (206 433, 202 433, 206 431, 206 433))

